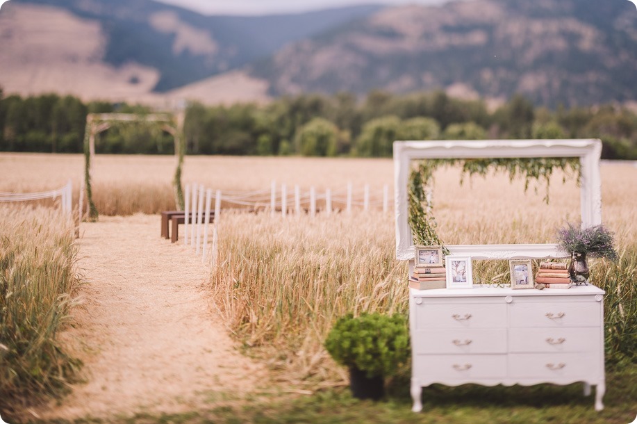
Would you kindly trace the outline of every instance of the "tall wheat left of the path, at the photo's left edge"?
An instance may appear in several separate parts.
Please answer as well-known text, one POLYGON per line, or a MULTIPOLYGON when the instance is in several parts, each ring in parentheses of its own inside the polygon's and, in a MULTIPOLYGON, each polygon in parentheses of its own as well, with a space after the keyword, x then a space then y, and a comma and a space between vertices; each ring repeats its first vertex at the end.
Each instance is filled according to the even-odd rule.
POLYGON ((78 363, 58 340, 72 307, 77 245, 59 210, 0 204, 0 411, 60 393, 78 363))

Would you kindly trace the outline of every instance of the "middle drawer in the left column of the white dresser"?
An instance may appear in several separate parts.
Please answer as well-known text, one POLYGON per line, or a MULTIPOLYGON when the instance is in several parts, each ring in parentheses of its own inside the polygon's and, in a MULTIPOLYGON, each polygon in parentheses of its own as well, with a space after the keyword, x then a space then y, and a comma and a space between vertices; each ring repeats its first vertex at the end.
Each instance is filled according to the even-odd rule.
POLYGON ((506 353, 506 329, 422 329, 411 344, 415 354, 506 353))

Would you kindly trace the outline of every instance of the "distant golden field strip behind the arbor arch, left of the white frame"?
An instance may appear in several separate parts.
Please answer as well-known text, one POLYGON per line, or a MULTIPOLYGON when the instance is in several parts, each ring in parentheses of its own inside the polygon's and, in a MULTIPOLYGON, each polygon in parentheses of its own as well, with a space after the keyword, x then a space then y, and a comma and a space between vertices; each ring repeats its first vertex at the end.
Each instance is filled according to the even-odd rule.
MULTIPOLYGON (((93 199, 99 213, 131 215, 174 209, 172 179, 176 159, 172 156, 101 155, 92 163, 93 199)), ((383 184, 392 184, 392 161, 388 159, 274 158, 247 156, 187 156, 183 184, 198 183, 222 190, 269 189, 271 181, 304 190, 315 186, 345 188, 347 181, 363 197, 370 184, 377 198, 383 184)), ((74 187, 74 202, 83 179, 84 158, 79 154, 0 154, 0 191, 31 192, 64 186, 74 187)))

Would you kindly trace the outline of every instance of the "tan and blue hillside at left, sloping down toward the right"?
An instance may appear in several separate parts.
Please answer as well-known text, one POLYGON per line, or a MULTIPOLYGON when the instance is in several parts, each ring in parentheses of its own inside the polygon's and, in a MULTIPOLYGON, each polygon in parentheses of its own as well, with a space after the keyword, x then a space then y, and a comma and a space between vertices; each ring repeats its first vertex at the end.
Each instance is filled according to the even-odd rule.
POLYGON ((0 13, 0 86, 24 95, 142 99, 238 70, 376 10, 232 17, 151 0, 13 0, 0 13))

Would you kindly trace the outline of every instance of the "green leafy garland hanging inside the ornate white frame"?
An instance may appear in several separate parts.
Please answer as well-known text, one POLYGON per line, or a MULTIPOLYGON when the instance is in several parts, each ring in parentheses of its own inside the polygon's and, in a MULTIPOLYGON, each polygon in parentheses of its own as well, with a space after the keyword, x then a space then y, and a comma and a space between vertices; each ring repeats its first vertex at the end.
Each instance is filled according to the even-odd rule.
MULTIPOLYGON (((531 181, 538 185, 544 183, 546 192, 544 201, 549 203, 549 184, 555 169, 564 173, 563 181, 571 174, 581 178, 581 164, 579 158, 481 158, 481 159, 429 159, 419 161, 411 171, 408 182, 408 220, 415 245, 441 245, 445 254, 449 250, 436 234, 436 218, 433 216, 433 201, 427 195, 433 185, 433 172, 441 165, 461 165, 462 174, 460 184, 465 176, 475 174, 486 177, 489 170, 494 172, 508 172, 509 181, 518 175, 524 176, 524 192, 529 189, 531 181)), ((538 186, 535 188, 536 193, 538 186)))

